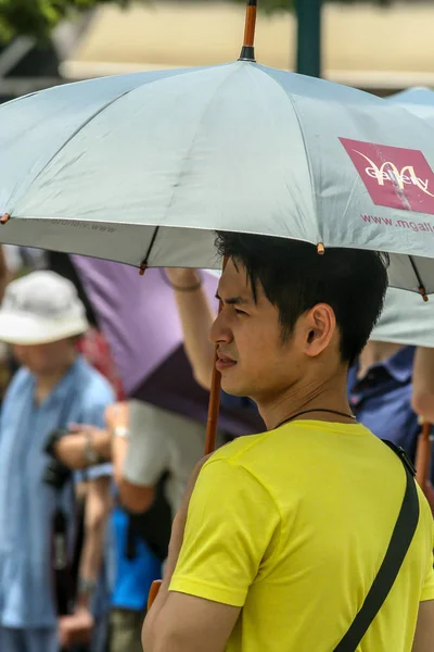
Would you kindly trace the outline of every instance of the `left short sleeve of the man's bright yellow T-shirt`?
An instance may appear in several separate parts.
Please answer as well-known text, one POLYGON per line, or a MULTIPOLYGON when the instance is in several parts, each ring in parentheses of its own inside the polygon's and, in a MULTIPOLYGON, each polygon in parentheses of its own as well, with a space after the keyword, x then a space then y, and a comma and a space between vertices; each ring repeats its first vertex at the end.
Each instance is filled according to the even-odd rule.
POLYGON ((243 466, 210 460, 191 497, 170 591, 243 606, 280 536, 277 506, 243 466))

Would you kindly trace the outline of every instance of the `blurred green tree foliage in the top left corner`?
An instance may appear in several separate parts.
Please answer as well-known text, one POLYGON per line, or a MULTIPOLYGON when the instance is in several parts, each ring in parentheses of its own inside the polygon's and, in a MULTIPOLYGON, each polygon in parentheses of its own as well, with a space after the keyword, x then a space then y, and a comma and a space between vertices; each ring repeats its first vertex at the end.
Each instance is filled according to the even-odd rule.
POLYGON ((0 40, 23 35, 46 40, 63 18, 110 2, 126 5, 128 0, 0 0, 0 40))

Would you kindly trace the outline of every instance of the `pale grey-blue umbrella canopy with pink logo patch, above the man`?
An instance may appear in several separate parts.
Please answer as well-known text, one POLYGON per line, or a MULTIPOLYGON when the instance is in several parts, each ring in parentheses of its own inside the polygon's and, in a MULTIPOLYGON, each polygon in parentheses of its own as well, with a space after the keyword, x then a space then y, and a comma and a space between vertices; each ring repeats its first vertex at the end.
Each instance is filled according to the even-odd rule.
POLYGON ((0 238, 215 267, 215 229, 267 234, 388 251, 392 285, 431 292, 431 133, 397 103, 252 61, 52 88, 0 106, 0 238))

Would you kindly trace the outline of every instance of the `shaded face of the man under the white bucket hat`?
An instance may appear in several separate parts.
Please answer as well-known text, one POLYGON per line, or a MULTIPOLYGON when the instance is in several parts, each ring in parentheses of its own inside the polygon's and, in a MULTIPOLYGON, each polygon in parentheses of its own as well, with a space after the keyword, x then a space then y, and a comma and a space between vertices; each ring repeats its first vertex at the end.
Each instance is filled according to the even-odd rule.
POLYGON ((16 360, 33 374, 53 374, 65 366, 74 344, 72 340, 61 340, 49 344, 13 344, 12 350, 16 360))

